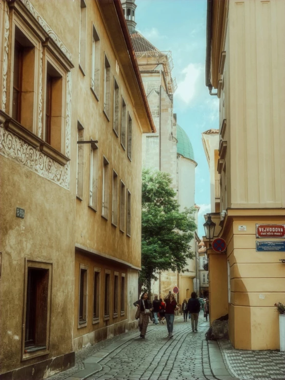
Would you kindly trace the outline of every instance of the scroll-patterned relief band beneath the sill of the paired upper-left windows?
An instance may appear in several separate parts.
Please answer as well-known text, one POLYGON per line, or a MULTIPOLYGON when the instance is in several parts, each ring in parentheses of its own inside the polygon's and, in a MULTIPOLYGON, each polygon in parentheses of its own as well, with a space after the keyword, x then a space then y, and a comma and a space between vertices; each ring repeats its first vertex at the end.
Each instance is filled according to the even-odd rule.
POLYGON ((0 124, 0 154, 15 159, 41 176, 69 189, 69 162, 61 166, 0 124))

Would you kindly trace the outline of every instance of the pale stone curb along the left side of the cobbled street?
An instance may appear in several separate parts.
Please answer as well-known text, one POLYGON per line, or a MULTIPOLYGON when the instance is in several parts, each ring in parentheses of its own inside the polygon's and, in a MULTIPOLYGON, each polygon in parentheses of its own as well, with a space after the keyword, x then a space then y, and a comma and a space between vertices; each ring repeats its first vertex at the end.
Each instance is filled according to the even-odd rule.
MULTIPOLYGON (((148 330, 148 332, 151 332, 155 328, 152 327, 148 330)), ((109 346, 105 347, 104 349, 97 351, 95 354, 88 356, 86 359, 82 361, 84 365, 84 369, 80 370, 76 373, 74 373, 70 377, 66 377, 65 380, 85 380, 90 376, 93 376, 95 373, 100 372, 102 369, 102 366, 100 366, 99 362, 103 360, 106 356, 110 355, 113 351, 115 351, 120 346, 124 345, 124 343, 128 342, 129 340, 132 340, 134 338, 137 338, 139 335, 138 333, 134 333, 131 336, 128 336, 126 338, 122 338, 115 343, 111 343, 109 346)))

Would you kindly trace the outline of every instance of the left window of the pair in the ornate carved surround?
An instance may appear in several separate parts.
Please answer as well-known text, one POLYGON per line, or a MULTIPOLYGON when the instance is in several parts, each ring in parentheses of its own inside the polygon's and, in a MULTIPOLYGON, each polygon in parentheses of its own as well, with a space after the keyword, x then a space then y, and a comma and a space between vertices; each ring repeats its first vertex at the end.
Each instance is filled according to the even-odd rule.
POLYGON ((15 26, 12 117, 33 132, 35 46, 15 26))

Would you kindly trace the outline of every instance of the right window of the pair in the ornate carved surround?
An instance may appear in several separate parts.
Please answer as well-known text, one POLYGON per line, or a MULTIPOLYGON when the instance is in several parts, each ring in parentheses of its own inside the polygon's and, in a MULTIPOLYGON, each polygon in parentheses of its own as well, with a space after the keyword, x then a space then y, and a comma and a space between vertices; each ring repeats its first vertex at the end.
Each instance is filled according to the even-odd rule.
POLYGON ((62 151, 63 74, 51 62, 46 64, 44 140, 62 151))

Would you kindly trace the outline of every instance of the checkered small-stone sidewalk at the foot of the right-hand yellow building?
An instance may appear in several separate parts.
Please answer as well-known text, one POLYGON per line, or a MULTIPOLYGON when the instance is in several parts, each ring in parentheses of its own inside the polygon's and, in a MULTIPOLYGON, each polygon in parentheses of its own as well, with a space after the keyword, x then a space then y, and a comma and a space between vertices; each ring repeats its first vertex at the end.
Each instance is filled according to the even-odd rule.
POLYGON ((279 351, 236 350, 228 340, 220 340, 219 346, 228 370, 242 379, 285 379, 285 353, 279 351))

